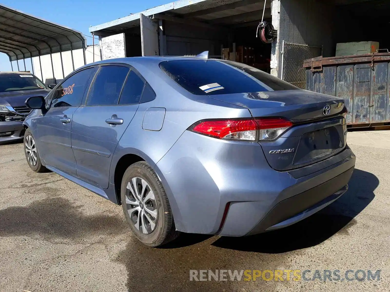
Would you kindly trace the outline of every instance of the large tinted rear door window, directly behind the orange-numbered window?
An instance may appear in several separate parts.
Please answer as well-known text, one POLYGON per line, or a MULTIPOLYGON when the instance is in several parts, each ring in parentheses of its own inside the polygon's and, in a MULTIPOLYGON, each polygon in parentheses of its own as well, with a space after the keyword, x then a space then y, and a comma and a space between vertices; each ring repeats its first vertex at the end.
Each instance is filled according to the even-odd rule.
POLYGON ((97 72, 88 93, 87 106, 111 106, 118 104, 128 67, 102 66, 97 72))

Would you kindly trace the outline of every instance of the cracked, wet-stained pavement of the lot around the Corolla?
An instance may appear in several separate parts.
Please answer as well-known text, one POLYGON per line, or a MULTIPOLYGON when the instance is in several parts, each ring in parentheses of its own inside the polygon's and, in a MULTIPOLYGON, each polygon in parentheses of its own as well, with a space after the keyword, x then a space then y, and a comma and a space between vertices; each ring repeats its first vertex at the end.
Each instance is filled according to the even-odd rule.
MULTIPOLYGON (((0 145, 0 291, 389 291, 390 131, 351 132, 349 191, 320 213, 252 237, 184 235, 147 248, 122 209, 0 145), (380 281, 189 281, 189 270, 381 270, 380 281)), ((351 274, 353 276, 353 274, 351 274)))

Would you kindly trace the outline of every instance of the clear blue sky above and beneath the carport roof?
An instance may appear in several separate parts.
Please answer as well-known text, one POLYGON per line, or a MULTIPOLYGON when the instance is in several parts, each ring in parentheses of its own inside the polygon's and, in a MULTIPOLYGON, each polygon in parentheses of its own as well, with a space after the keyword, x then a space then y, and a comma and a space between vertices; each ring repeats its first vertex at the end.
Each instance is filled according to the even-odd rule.
MULTIPOLYGON (((91 36, 88 31, 90 26, 112 21, 168 2, 172 2, 172 0, 2 0, 2 4, 8 7, 74 28, 88 36, 91 36)), ((86 38, 88 44, 92 44, 92 38, 86 38)), ((31 70, 29 61, 30 59, 26 62, 27 70, 31 70)), ((19 66, 21 70, 24 69, 22 60, 19 61, 19 66)), ((0 71, 11 71, 9 58, 4 53, 0 53, 0 71)))

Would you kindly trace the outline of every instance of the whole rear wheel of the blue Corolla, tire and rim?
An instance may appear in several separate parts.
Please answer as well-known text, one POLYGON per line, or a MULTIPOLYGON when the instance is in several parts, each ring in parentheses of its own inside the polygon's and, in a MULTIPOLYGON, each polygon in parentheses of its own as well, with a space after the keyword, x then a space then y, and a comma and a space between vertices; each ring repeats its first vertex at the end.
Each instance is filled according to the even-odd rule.
POLYGON ((121 200, 130 229, 145 245, 165 245, 179 236, 164 187, 147 162, 137 162, 126 169, 121 200))

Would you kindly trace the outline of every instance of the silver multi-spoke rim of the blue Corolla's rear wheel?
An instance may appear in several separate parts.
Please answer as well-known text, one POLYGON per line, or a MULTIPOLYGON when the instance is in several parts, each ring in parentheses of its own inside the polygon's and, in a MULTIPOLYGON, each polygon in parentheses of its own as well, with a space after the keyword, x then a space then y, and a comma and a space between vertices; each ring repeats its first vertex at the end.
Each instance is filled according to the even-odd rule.
POLYGON ((142 178, 132 178, 126 186, 126 206, 135 228, 150 234, 156 228, 158 209, 154 193, 142 178))

